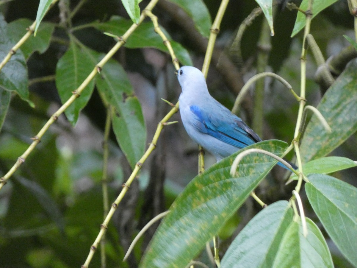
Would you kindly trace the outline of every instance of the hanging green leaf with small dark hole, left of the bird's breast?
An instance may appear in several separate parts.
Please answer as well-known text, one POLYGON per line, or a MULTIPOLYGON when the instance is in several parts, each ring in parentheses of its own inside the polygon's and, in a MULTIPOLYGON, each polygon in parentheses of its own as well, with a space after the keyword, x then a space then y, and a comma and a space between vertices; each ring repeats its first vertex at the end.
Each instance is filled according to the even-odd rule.
POLYGON ((129 78, 122 66, 111 59, 101 70, 96 85, 105 102, 114 108, 113 130, 121 150, 134 168, 144 154, 146 128, 139 100, 134 95, 129 78))

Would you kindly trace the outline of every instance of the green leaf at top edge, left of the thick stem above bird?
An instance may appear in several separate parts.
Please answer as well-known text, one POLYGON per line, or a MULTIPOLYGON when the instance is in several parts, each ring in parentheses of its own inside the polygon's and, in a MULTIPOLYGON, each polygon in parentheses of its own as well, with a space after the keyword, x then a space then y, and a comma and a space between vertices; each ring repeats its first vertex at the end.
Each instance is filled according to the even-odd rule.
POLYGON ((210 28, 212 20, 207 6, 202 0, 169 0, 170 2, 180 6, 188 16, 195 22, 196 29, 203 36, 210 36, 210 28))

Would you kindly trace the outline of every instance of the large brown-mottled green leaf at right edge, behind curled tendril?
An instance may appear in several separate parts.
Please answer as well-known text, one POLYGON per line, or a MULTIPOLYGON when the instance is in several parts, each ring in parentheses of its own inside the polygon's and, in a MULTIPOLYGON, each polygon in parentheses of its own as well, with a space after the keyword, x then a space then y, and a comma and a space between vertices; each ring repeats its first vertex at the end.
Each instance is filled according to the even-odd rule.
POLYGON ((357 61, 353 60, 326 91, 317 109, 327 120, 328 133, 313 115, 306 126, 300 153, 303 162, 324 157, 357 130, 357 61))

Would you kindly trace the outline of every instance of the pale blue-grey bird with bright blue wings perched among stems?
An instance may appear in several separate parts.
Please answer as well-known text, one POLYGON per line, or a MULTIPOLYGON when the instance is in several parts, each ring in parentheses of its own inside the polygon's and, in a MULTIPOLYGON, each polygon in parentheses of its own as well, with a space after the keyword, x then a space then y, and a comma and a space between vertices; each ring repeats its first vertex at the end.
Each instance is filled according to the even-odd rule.
POLYGON ((262 140, 241 118, 210 95, 199 69, 182 66, 176 73, 182 89, 178 101, 183 126, 191 139, 217 162, 262 140))

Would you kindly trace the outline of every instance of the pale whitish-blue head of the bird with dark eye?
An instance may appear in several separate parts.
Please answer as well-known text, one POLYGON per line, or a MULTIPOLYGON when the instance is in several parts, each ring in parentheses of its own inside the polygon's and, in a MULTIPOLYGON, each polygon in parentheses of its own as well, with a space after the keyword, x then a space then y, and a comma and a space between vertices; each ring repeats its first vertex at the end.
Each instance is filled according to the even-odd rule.
POLYGON ((190 94, 208 93, 205 76, 202 72, 192 66, 182 66, 177 70, 178 83, 182 92, 190 94))

